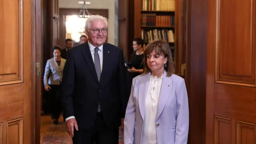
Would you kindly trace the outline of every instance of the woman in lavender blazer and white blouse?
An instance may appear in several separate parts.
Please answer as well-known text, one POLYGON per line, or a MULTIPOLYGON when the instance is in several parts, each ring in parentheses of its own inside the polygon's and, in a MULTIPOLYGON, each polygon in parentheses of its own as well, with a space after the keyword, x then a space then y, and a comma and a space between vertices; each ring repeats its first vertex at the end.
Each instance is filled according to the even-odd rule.
POLYGON ((144 73, 132 81, 124 118, 124 144, 186 144, 188 95, 184 79, 173 74, 170 46, 150 42, 144 73))

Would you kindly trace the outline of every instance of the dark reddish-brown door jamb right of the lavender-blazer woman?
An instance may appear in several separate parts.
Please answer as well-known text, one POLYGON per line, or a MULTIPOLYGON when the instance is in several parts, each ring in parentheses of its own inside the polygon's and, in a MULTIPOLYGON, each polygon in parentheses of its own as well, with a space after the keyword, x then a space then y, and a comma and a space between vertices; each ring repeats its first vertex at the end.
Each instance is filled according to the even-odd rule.
MULTIPOLYGON (((190 144, 213 142, 212 139, 206 139, 206 25, 207 1, 187 0, 186 83, 190 108, 190 144)), ((210 116, 214 120, 213 115, 210 116)))

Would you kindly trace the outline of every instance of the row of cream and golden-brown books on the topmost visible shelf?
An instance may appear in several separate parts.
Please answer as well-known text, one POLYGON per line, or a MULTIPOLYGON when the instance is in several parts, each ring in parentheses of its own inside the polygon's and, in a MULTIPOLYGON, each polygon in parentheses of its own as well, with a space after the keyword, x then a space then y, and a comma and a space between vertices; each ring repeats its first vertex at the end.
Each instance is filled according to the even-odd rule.
POLYGON ((141 0, 141 10, 174 11, 175 0, 141 0))

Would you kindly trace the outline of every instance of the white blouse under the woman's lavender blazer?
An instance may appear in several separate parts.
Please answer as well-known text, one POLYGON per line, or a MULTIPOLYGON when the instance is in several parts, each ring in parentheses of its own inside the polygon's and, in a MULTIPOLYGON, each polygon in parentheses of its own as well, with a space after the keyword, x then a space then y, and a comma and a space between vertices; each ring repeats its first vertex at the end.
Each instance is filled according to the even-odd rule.
POLYGON ((162 85, 162 78, 163 75, 159 78, 157 78, 157 76, 150 76, 145 103, 142 144, 157 144, 156 114, 158 110, 158 99, 162 85))

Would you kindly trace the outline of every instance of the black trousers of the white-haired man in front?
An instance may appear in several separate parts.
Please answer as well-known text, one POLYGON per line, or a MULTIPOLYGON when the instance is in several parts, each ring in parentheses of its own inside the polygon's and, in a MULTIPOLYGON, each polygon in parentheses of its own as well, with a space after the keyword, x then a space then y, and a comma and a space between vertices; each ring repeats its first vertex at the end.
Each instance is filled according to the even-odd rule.
POLYGON ((73 144, 118 144, 119 129, 107 129, 102 114, 97 113, 92 130, 82 130, 78 126, 78 131, 74 128, 72 140, 73 144))

